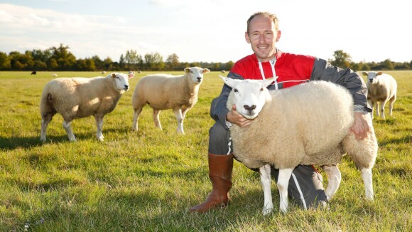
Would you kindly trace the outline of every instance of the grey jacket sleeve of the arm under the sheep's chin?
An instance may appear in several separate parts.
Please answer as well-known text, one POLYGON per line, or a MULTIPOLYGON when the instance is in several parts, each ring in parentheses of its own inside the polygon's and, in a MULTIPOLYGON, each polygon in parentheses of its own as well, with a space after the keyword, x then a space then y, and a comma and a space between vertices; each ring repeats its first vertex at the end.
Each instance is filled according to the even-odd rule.
MULTIPOLYGON (((237 73, 232 73, 232 72, 229 72, 229 74, 227 75, 227 78, 240 79, 240 80, 244 79, 241 75, 237 73)), ((227 102, 227 97, 229 96, 230 91, 232 91, 232 88, 224 84, 222 88, 222 92, 220 93, 219 97, 216 97, 215 99, 213 99, 212 105, 210 105, 210 117, 212 117, 213 120, 222 124, 223 127, 227 129, 229 128, 226 125, 226 115, 229 112, 229 110, 226 107, 226 102, 227 102)))

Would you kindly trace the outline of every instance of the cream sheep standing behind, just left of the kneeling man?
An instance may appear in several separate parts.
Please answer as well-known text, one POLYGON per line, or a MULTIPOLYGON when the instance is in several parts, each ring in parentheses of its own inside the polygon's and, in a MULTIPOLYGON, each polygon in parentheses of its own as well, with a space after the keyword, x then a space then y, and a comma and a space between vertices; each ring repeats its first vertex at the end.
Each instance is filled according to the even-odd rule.
POLYGON ((178 121, 177 132, 183 131, 183 120, 186 112, 197 102, 197 92, 203 80, 203 74, 209 73, 207 68, 185 68, 184 75, 155 74, 141 78, 134 89, 131 104, 134 108, 132 129, 138 130, 138 120, 143 106, 153 108, 155 126, 162 129, 159 121, 161 110, 172 109, 178 121))

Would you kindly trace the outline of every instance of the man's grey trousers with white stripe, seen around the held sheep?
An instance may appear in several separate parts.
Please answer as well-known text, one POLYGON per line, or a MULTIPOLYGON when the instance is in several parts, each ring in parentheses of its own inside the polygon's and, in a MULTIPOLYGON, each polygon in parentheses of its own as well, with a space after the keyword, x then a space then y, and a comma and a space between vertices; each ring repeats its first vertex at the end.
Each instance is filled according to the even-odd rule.
MULTIPOLYGON (((233 152, 230 132, 219 122, 209 130, 209 153, 231 154, 233 152)), ((252 169, 259 172, 258 169, 252 169)), ((271 168, 271 176, 278 180, 279 170, 271 168)), ((304 209, 325 204, 326 194, 322 185, 322 175, 312 166, 299 165, 293 170, 288 185, 288 195, 304 209)))

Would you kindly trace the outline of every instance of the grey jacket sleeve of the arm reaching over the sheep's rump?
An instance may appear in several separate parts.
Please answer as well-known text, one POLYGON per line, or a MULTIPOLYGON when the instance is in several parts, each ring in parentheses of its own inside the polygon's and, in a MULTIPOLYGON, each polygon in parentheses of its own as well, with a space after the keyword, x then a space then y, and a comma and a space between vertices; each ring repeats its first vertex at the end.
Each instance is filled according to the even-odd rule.
POLYGON ((327 80, 343 85, 352 93, 355 112, 372 112, 367 102, 367 86, 364 80, 350 68, 342 69, 326 60, 315 58, 310 80, 327 80))

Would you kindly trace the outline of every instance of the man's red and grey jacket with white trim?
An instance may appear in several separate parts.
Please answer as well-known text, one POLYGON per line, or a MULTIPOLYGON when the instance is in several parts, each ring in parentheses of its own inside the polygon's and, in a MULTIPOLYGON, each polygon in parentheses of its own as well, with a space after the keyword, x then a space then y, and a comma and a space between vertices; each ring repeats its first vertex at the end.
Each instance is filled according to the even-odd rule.
MULTIPOLYGON (((268 62, 261 62, 255 54, 238 60, 227 75, 234 79, 261 80, 274 78, 269 85, 269 90, 289 88, 293 85, 305 83, 310 80, 326 80, 344 86, 352 93, 355 112, 372 112, 367 103, 367 87, 363 79, 353 70, 338 68, 326 60, 313 56, 303 56, 277 51, 276 57, 268 62)), ((210 116, 226 127, 227 96, 230 88, 224 85, 222 93, 212 101, 210 116)), ((326 96, 325 96, 326 97, 326 96)), ((293 107, 293 106, 291 106, 293 107)))

